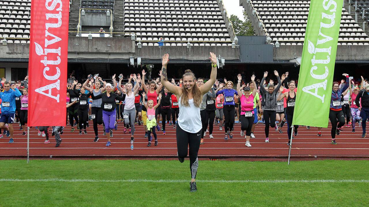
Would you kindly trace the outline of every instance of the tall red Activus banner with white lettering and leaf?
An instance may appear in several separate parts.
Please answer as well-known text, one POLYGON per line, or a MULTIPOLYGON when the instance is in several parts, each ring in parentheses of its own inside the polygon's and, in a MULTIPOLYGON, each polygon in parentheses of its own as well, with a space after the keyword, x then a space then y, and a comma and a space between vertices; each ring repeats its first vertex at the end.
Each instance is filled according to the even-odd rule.
POLYGON ((69 0, 32 0, 28 126, 65 126, 69 0))

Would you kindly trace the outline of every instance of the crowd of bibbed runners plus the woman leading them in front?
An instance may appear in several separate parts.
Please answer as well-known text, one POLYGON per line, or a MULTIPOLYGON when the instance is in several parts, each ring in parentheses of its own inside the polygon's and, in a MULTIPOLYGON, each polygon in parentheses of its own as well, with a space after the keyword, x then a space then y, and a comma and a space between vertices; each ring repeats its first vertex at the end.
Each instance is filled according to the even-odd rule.
MULTIPOLYGON (((146 79, 146 72, 131 74, 127 82, 122 83, 123 74, 115 75, 112 80, 103 80, 97 75, 89 75, 84 83, 76 80, 68 84, 66 90, 67 120, 71 132, 87 134, 89 121, 92 120, 94 142, 101 134, 106 136, 106 147, 112 143, 114 130, 124 127, 124 133, 148 139, 147 147, 157 146, 157 131, 166 134, 166 129, 176 129, 178 157, 183 162, 189 147, 190 169, 192 174, 191 190, 196 190, 197 152, 205 138, 213 138, 214 127, 224 131, 224 140, 234 136, 245 137, 245 146, 252 147, 255 138, 255 124, 265 124, 265 142, 269 143, 269 129, 275 133, 287 133, 288 142, 298 136, 299 126, 292 127, 292 119, 297 94, 295 80, 289 80, 289 73, 279 76, 277 71, 268 76, 266 71, 261 81, 255 75, 245 80, 237 76, 237 86, 232 81, 217 80, 217 60, 210 53, 210 79, 196 78, 190 71, 184 71, 183 77, 176 82, 169 80, 167 71, 169 55, 163 56, 162 70, 154 80, 146 79), (268 80, 269 79, 269 80, 268 80), (237 117, 237 122, 235 122, 237 117), (121 122, 123 123, 120 123, 121 122), (285 124, 287 123, 287 124, 285 124), (98 125, 103 125, 103 131, 98 125), (235 124, 240 124, 241 131, 235 131, 235 124), (135 135, 135 125, 143 125, 145 134, 135 135), (285 126, 286 125, 286 126, 285 126), (294 131, 292 131, 292 129, 294 131), (75 131, 76 130, 76 131, 75 131), (239 135, 238 135, 239 134, 239 135)), ((363 77, 361 82, 342 74, 341 83, 332 85, 329 120, 332 125, 331 144, 337 144, 336 135, 342 127, 362 126, 362 138, 366 136, 366 120, 369 116, 369 84, 363 77)), ((247 79, 247 78, 246 78, 247 79)), ((11 84, 4 78, 0 92, 1 116, 0 127, 4 135, 14 142, 14 124, 19 124, 22 135, 27 135, 28 76, 23 83, 11 84)), ((308 116, 308 115, 307 115, 308 116)), ((17 126, 18 127, 18 126, 17 126)), ((16 127, 16 128, 17 128, 16 127)), ((302 126, 300 126, 302 127, 302 126)), ((303 126, 310 129, 310 126, 303 126)), ((38 126, 38 136, 45 137, 45 144, 55 136, 59 147, 63 126, 38 126), (50 128, 50 129, 49 129, 50 128)), ((15 129, 17 130, 17 129, 15 129)), ((317 128, 317 136, 322 136, 317 128)), ((0 138, 3 135, 0 133, 0 138)))

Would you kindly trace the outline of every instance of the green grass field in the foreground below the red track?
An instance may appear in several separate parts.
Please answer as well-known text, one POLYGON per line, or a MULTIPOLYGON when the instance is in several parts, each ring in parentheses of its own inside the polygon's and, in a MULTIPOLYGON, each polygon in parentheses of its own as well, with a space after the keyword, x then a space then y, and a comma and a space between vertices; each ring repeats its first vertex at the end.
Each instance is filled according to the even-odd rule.
POLYGON ((369 161, 0 160, 0 206, 369 206, 369 161))

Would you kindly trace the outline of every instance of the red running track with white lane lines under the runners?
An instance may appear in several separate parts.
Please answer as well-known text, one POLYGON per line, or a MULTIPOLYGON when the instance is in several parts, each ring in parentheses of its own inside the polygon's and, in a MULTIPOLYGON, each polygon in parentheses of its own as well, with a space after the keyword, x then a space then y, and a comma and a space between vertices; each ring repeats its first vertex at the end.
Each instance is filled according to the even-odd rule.
MULTIPOLYGON (((9 144, 8 138, 0 139, 0 157, 25 157, 27 155, 27 136, 22 136, 17 124, 14 124, 14 143, 9 144)), ((118 124, 111 138, 112 145, 105 147, 106 137, 102 135, 99 126, 100 140, 93 142, 94 133, 92 123, 87 129, 88 134, 78 134, 78 130, 70 132, 70 126, 65 127, 62 134, 61 146, 55 148, 55 138, 50 137, 51 143, 44 144, 45 137, 37 136, 37 130, 30 129, 31 157, 176 157, 176 138, 173 126, 167 126, 166 135, 157 132, 159 145, 146 147, 147 138, 143 138, 144 129, 136 125, 134 150, 130 149, 130 134, 123 133, 123 124, 118 124)), ((288 156, 287 124, 283 127, 283 134, 270 128, 269 143, 265 143, 265 133, 262 123, 256 125, 255 137, 251 139, 252 147, 245 146, 245 138, 239 134, 240 125, 235 125, 234 138, 224 140, 224 130, 214 126, 213 139, 205 136, 205 144, 200 146, 199 157, 203 158, 285 158, 288 156)), ((337 145, 332 145, 330 129, 322 130, 322 137, 317 136, 317 129, 311 127, 299 128, 299 135, 293 139, 292 157, 368 157, 369 138, 361 138, 361 127, 356 126, 356 133, 351 127, 343 127, 341 135, 336 136, 337 145)), ((50 132, 51 134, 51 132, 50 132)))

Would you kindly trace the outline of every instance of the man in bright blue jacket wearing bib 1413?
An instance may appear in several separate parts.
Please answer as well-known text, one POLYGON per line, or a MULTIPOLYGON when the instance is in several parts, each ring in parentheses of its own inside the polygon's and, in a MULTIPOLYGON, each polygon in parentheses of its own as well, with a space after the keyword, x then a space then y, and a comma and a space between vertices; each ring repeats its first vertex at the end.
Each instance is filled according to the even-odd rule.
POLYGON ((15 97, 20 97, 22 94, 17 88, 10 86, 10 83, 4 83, 4 92, 0 92, 1 102, 1 116, 0 128, 6 129, 6 136, 10 136, 9 143, 13 143, 13 123, 15 119, 15 97), (8 124, 6 126, 5 124, 8 124))

